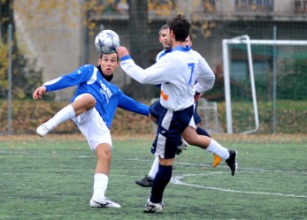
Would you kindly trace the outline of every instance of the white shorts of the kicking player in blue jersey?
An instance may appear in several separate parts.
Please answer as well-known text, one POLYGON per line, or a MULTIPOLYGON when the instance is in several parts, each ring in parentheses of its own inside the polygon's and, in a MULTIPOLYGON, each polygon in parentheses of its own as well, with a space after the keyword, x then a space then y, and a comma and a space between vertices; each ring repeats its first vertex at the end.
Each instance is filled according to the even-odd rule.
MULTIPOLYGON (((74 100, 81 99, 84 95, 90 94, 79 95, 74 100)), ((110 129, 105 125, 104 119, 96 108, 84 111, 81 115, 73 118, 73 122, 88 140, 88 145, 94 152, 98 144, 102 143, 109 144, 112 148, 110 129)))

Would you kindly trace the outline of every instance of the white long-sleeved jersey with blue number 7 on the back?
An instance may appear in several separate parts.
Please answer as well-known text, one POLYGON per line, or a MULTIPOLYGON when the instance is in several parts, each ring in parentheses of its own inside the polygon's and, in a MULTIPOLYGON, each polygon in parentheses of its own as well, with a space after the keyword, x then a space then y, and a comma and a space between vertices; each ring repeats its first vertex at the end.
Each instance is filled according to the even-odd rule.
POLYGON ((211 89, 215 80, 204 58, 188 46, 172 49, 145 70, 134 64, 130 56, 122 57, 120 66, 142 84, 161 84, 161 105, 174 111, 193 105, 196 91, 211 89))

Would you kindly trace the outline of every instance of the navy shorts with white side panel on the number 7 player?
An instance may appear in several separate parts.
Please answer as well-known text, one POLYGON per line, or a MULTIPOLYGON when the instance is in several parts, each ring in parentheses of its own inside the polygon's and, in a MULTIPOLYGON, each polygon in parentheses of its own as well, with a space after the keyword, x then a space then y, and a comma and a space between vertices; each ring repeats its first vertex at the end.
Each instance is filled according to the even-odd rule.
POLYGON ((167 110, 161 106, 158 119, 157 136, 151 147, 151 153, 165 159, 175 157, 181 133, 188 127, 193 118, 194 105, 185 110, 167 110))

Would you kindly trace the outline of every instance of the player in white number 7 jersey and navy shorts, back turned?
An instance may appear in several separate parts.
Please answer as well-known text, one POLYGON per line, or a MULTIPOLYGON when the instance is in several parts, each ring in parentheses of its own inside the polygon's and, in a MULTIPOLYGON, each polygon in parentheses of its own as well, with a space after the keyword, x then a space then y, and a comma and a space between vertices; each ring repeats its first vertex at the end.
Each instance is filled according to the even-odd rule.
POLYGON ((134 80, 143 84, 161 84, 160 103, 164 110, 160 114, 156 140, 151 147, 151 152, 159 156, 159 167, 144 212, 162 211, 165 208, 163 193, 172 177, 173 161, 181 135, 188 144, 205 148, 226 160, 232 175, 237 169, 236 150, 228 150, 217 141, 196 133, 193 118, 195 95, 197 101, 201 93, 210 90, 215 75, 204 58, 186 46, 190 28, 188 19, 179 15, 170 19, 167 25, 172 51, 145 70, 134 64, 127 48, 117 49, 121 68, 134 80))

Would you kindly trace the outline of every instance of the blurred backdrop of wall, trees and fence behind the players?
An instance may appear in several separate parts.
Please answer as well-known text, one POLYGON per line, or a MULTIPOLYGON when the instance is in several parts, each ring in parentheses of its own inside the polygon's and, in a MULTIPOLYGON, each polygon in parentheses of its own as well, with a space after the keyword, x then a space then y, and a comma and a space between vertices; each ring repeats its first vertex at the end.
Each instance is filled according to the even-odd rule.
MULTIPOLYGON (((74 88, 50 93, 39 102, 32 100, 32 93, 44 81, 82 64, 96 64, 94 39, 101 30, 117 32, 135 63, 146 68, 162 49, 159 28, 177 14, 191 22, 192 48, 216 74, 215 86, 200 103, 204 128, 211 133, 306 133, 307 0, 3 0, 0 134, 35 133, 37 125, 70 101, 74 88), (228 44, 223 56, 223 40, 242 35, 262 41, 250 44, 252 65, 243 42, 228 44)), ((120 68, 113 82, 147 104, 159 94, 157 87, 131 80, 120 68)), ((114 120, 115 132, 151 132, 149 121, 140 128, 136 116, 122 114, 119 111, 119 120, 114 120)), ((73 125, 58 128, 58 133, 72 132, 78 132, 73 125)))

